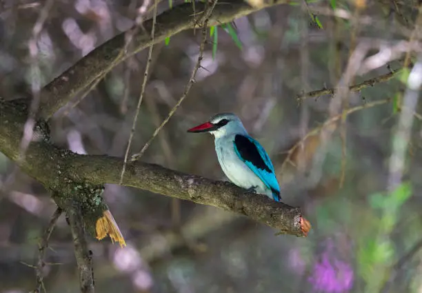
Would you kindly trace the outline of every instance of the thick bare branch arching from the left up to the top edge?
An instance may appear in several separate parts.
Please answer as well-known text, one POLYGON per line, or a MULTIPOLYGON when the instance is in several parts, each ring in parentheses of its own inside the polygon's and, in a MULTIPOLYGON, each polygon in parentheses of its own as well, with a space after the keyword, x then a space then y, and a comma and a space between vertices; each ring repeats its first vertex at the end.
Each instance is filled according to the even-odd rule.
MULTIPOLYGON (((270 6, 286 3, 287 0, 275 0, 259 8, 252 8, 243 0, 222 1, 215 6, 208 26, 226 23, 270 6)), ((154 38, 151 39, 152 19, 143 22, 145 30, 138 30, 132 39, 132 46, 124 52, 125 32, 118 34, 98 48, 92 50, 59 77, 48 83, 40 92, 41 104, 39 117, 49 119, 63 105, 74 98, 81 90, 93 81, 110 72, 115 65, 154 43, 164 41, 183 30, 198 26, 201 21, 201 11, 205 10, 205 3, 183 3, 180 6, 167 10, 157 16, 157 28, 154 38)))

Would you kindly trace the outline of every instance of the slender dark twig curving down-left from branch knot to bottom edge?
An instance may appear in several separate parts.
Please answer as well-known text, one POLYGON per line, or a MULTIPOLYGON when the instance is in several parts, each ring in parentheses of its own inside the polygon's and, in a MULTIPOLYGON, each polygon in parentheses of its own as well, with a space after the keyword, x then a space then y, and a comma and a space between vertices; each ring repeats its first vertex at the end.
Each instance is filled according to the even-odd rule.
POLYGON ((48 227, 46 231, 43 234, 43 237, 39 241, 39 247, 38 247, 38 263, 37 267, 35 267, 35 273, 37 275, 37 285, 36 289, 34 290, 34 293, 41 292, 41 287, 43 287, 43 267, 46 265, 44 261, 44 256, 46 254, 46 249, 48 248, 48 241, 50 240, 50 236, 52 231, 54 230, 54 226, 57 223, 57 219, 59 219, 59 216, 61 215, 63 211, 61 208, 57 208, 57 210, 52 214, 50 223, 48 224, 48 227))

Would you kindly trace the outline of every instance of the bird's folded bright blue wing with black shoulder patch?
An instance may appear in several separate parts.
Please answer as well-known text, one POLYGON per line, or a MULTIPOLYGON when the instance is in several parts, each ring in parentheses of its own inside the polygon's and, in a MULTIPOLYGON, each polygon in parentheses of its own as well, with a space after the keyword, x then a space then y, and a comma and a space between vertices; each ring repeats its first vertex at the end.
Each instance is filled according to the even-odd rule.
POLYGON ((236 134, 234 151, 261 181, 270 188, 274 201, 280 201, 280 187, 270 157, 258 141, 252 137, 236 134))

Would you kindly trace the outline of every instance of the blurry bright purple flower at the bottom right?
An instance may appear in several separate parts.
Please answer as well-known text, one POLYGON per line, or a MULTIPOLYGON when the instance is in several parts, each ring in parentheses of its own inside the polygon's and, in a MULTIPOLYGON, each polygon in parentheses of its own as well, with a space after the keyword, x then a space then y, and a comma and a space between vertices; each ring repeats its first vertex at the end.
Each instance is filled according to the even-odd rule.
POLYGON ((312 276, 308 279, 314 290, 328 293, 348 292, 353 285, 353 270, 348 263, 333 259, 324 252, 321 261, 314 264, 312 276))

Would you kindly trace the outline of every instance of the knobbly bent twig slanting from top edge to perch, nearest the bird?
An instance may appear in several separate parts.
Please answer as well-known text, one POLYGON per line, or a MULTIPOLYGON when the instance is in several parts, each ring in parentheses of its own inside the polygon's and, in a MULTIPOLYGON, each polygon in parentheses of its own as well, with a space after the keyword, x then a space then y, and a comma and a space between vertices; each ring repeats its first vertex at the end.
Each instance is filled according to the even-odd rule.
POLYGON ((170 110, 170 112, 168 113, 168 116, 159 125, 159 127, 154 131, 154 133, 152 134, 152 137, 150 139, 148 139, 148 141, 145 143, 145 145, 143 145, 143 148, 141 149, 141 151, 139 153, 137 153, 137 154, 134 154, 132 156, 131 161, 137 161, 138 159, 141 158, 141 156, 143 155, 143 153, 145 152, 145 150, 150 146, 152 140, 155 137, 157 137, 157 134, 160 132, 161 128, 163 128, 163 126, 166 123, 168 123, 168 121, 173 116, 174 112, 176 112, 177 108, 179 108, 179 106, 181 105, 181 103, 183 102, 183 100, 186 99, 186 97, 188 97, 188 93, 190 91, 190 88, 192 88, 192 85, 195 82, 195 77, 197 75, 197 72, 198 72, 199 68, 201 68, 201 61, 203 59, 203 50, 205 48, 205 43, 207 41, 207 26, 208 26, 208 21, 209 21, 210 15, 212 13, 212 10, 216 6, 216 4, 217 4, 217 0, 215 0, 212 3, 212 6, 210 6, 210 8, 208 8, 208 10, 204 12, 204 18, 203 18, 203 23, 202 23, 202 41, 201 41, 201 45, 199 45, 199 56, 198 56, 197 63, 195 64, 194 69, 192 70, 192 74, 190 75, 190 79, 188 81, 188 84, 185 87, 185 91, 183 92, 183 94, 180 97, 179 101, 177 101, 176 105, 174 105, 174 107, 172 108, 172 110, 170 110))

